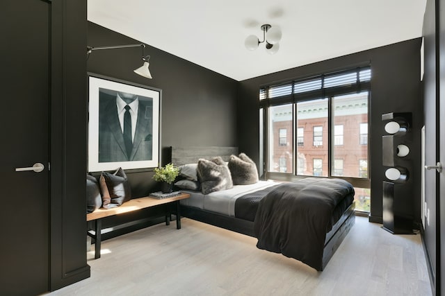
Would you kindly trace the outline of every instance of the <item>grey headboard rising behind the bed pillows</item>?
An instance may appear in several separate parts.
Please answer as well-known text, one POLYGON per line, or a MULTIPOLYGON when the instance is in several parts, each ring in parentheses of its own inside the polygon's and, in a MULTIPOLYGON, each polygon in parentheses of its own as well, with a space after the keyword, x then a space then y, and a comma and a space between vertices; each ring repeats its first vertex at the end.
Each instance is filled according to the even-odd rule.
POLYGON ((211 157, 216 156, 220 156, 225 162, 228 162, 229 157, 232 154, 238 155, 238 147, 172 147, 172 164, 175 166, 193 164, 200 158, 210 159, 211 157))

